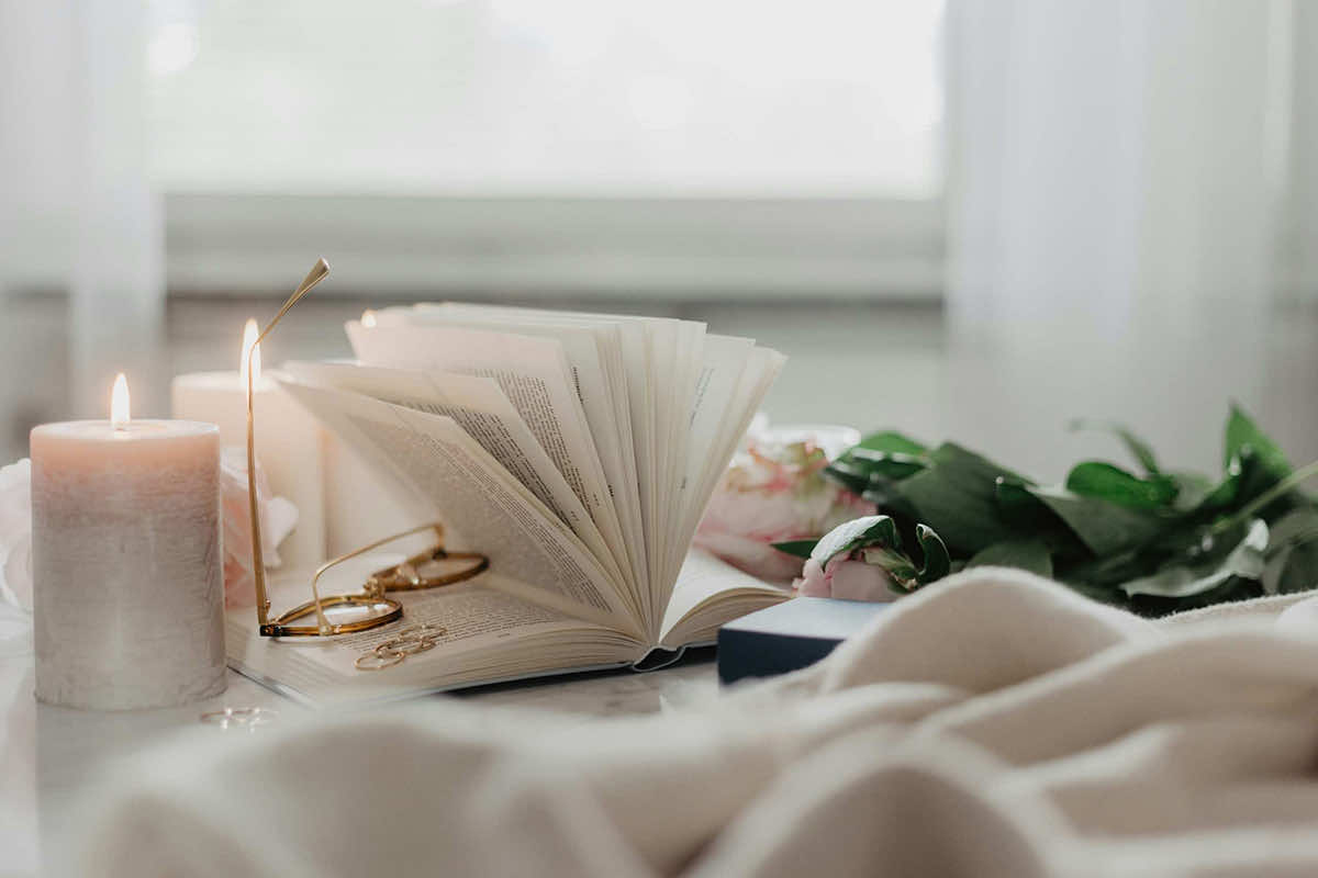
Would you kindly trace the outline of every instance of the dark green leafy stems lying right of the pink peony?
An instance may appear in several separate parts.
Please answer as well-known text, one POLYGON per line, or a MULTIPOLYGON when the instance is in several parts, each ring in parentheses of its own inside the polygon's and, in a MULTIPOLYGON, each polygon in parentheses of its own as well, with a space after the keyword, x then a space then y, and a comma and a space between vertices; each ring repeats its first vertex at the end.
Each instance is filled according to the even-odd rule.
POLYGON ((1140 473, 1083 461, 1044 486, 954 442, 884 430, 825 470, 878 516, 779 548, 879 563, 904 590, 969 566, 1019 567, 1144 615, 1318 587, 1318 503, 1300 487, 1318 462, 1292 469, 1238 405, 1217 479, 1161 466, 1122 425, 1072 429, 1114 433, 1140 473))

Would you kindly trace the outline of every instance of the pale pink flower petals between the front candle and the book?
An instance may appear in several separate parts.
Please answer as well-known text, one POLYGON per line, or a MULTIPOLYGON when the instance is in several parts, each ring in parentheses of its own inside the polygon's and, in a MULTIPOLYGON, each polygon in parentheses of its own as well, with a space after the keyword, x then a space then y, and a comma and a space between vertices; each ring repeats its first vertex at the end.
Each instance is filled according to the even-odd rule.
MULTIPOLYGON (((261 555, 266 569, 278 567, 278 545, 298 524, 298 507, 270 495, 261 461, 256 462, 256 496, 261 508, 261 555)), ((250 607, 256 603, 252 573, 252 513, 248 504, 246 452, 225 448, 220 453, 220 511, 224 515, 224 603, 250 607)))

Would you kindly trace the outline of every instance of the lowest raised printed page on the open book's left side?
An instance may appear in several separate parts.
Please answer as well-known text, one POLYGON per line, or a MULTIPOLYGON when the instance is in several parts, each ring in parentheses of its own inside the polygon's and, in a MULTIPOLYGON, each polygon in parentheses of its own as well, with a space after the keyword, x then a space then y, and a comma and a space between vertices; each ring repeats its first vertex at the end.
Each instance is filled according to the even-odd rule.
POLYGON ((490 569, 540 603, 639 636, 634 611, 585 545, 451 419, 290 382, 286 390, 348 442, 368 442, 490 569))

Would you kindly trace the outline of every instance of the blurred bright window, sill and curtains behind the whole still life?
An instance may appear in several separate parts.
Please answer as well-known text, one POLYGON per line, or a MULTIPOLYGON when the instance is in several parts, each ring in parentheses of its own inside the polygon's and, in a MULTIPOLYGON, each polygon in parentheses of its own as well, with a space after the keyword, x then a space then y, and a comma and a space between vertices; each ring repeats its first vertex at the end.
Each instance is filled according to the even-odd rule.
POLYGON ((0 0, 0 458, 418 299, 706 320, 775 421, 1318 457, 1318 4, 0 0))

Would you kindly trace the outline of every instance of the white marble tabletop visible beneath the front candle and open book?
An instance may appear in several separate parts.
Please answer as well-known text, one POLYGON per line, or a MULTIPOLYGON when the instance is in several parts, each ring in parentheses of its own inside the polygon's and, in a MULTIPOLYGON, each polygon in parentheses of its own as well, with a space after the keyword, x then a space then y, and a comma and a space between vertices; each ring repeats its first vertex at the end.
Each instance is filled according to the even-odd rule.
MULTIPOLYGON (((228 691, 187 707, 152 711, 88 712, 33 698, 30 649, 0 649, 0 877, 41 874, 42 852, 66 849, 70 810, 100 771, 128 756, 149 752, 182 729, 196 728, 200 715, 224 707, 262 707, 293 723, 307 712, 279 695, 228 673, 228 691)), ((476 690, 460 695, 472 703, 539 707, 581 716, 648 713, 695 700, 717 698, 718 682, 709 657, 648 674, 592 674, 476 690)), ((390 710, 390 708, 376 708, 390 710)), ((261 735, 257 728, 203 727, 216 736, 261 735)), ((207 732, 210 733, 210 732, 207 732)))

